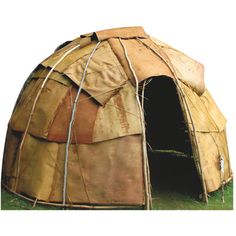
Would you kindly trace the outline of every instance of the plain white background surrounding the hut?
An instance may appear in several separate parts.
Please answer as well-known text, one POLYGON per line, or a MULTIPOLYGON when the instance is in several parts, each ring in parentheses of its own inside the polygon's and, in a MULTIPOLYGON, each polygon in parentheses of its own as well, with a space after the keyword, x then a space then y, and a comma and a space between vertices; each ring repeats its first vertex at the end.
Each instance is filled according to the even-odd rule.
MULTIPOLYGON (((205 65, 206 85, 228 119, 229 150, 235 166, 235 3, 234 0, 1 1, 0 160, 14 103, 25 79, 39 62, 59 44, 80 34, 140 25, 148 34, 205 65)), ((21 230, 34 235, 49 231, 64 235, 151 232, 229 235, 235 232, 235 219, 235 211, 2 211, 0 230, 7 230, 10 235, 21 230)))

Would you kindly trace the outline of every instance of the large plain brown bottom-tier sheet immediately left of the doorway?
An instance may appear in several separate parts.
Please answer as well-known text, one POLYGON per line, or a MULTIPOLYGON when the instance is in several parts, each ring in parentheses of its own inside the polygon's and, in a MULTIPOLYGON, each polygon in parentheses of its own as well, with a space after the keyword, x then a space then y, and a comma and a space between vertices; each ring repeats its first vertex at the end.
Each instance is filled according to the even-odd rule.
POLYGON ((141 136, 126 136, 78 146, 70 156, 68 195, 78 202, 79 165, 88 198, 97 204, 144 204, 141 136), (125 147, 125 151, 124 151, 125 147))

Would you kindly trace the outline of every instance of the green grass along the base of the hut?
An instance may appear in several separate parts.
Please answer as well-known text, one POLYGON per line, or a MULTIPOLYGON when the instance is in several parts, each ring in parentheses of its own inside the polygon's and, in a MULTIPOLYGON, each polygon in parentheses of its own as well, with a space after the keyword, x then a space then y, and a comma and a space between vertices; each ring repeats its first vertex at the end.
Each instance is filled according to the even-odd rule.
MULTIPOLYGON (((60 210, 61 207, 43 206, 37 204, 32 208, 31 202, 22 200, 5 190, 2 190, 2 210, 60 210)), ((215 192, 209 197, 209 203, 205 204, 184 192, 169 190, 156 190, 153 192, 154 210, 232 210, 233 209, 233 183, 225 188, 225 203, 221 201, 221 192, 215 192)))

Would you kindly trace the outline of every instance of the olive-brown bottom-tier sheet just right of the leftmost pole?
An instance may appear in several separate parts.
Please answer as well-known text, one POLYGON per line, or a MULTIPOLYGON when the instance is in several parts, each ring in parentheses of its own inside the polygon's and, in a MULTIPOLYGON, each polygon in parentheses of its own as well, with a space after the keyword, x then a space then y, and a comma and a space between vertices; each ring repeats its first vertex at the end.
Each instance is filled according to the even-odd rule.
POLYGON ((52 188, 58 144, 27 135, 19 163, 16 192, 46 200, 52 188))

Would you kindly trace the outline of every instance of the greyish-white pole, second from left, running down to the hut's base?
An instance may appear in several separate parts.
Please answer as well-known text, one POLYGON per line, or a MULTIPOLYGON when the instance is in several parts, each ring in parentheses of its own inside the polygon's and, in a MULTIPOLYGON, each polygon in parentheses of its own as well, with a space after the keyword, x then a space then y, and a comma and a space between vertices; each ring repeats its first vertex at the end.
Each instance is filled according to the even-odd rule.
POLYGON ((63 203, 63 205, 66 205, 69 146, 70 146, 70 143, 71 143, 71 131, 72 131, 72 128, 73 128, 73 125, 74 125, 77 104, 78 104, 78 101, 79 101, 79 96, 80 96, 81 91, 82 91, 83 83, 85 81, 85 77, 86 77, 86 74, 87 74, 87 69, 88 69, 89 63, 90 63, 90 61, 91 61, 91 59, 92 59, 92 57, 93 57, 93 55, 94 55, 95 51, 97 50, 100 43, 101 42, 98 42, 96 44, 96 46, 94 47, 93 51, 91 52, 91 54, 90 54, 90 56, 89 56, 89 58, 86 62, 86 65, 85 65, 85 68, 84 68, 84 71, 83 71, 83 75, 82 75, 82 79, 81 79, 81 82, 80 82, 80 86, 79 86, 79 89, 78 89, 78 92, 76 94, 76 97, 75 97, 75 100, 74 100, 74 103, 73 103, 73 107, 72 107, 71 119, 70 119, 69 129, 68 129, 68 136, 67 136, 67 141, 66 141, 66 153, 65 153, 65 164, 64 164, 64 181, 63 181, 63 193, 62 193, 62 203, 63 203))

